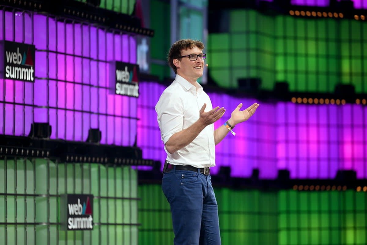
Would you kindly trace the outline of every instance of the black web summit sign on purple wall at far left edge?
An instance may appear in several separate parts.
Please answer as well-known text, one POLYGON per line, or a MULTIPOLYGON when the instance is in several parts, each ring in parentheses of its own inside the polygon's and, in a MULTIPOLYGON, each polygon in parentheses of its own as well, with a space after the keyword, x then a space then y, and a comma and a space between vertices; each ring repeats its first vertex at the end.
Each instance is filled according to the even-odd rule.
POLYGON ((34 82, 34 45, 2 41, 1 46, 3 78, 34 82))

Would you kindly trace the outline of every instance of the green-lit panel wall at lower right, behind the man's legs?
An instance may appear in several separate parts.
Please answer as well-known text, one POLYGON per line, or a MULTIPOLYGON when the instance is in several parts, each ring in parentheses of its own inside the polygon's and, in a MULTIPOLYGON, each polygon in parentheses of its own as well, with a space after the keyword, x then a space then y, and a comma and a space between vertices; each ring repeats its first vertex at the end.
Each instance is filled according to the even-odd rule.
MULTIPOLYGON (((214 187, 222 244, 365 245, 366 192, 214 187)), ((157 184, 140 185, 139 244, 171 244, 170 205, 157 184)))

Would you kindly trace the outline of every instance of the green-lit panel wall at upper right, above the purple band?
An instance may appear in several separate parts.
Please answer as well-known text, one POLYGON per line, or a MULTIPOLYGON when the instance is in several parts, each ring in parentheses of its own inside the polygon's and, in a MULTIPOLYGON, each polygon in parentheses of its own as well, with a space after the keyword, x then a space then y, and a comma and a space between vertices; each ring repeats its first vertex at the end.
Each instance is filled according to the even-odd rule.
POLYGON ((352 84, 367 93, 367 22, 299 18, 232 10, 229 32, 208 36, 209 74, 220 86, 238 88, 241 78, 260 78, 261 88, 287 82, 290 91, 334 92, 352 84))

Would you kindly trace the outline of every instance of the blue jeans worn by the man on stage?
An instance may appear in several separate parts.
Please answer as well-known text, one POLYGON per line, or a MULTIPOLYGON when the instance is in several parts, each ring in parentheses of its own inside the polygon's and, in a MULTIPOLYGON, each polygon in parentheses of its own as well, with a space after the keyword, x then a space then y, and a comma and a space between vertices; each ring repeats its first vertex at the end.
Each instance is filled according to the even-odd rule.
POLYGON ((163 173, 162 190, 170 203, 174 245, 221 245, 218 205, 211 176, 176 170, 163 173))

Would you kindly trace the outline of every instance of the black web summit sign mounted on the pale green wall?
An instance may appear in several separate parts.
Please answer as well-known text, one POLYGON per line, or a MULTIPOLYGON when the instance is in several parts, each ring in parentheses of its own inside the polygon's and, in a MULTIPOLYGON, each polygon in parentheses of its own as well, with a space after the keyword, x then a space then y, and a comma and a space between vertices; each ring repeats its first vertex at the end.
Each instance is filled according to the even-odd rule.
POLYGON ((62 197, 63 230, 93 229, 93 195, 65 194, 62 197))

